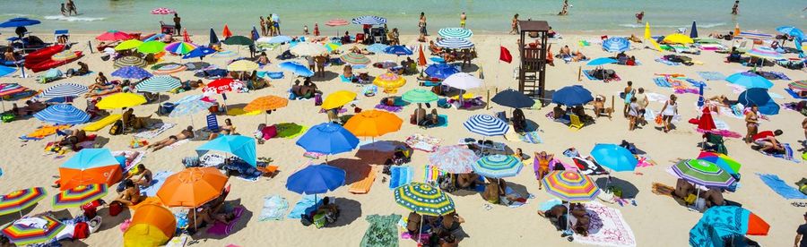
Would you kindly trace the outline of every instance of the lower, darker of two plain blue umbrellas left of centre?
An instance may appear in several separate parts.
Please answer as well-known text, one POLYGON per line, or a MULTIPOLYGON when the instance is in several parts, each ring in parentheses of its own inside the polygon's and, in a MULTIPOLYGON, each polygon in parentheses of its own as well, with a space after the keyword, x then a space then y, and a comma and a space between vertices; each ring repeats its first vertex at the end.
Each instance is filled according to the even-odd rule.
POLYGON ((339 167, 325 164, 306 166, 289 176, 286 189, 300 194, 333 192, 344 185, 344 176, 344 170, 339 167))

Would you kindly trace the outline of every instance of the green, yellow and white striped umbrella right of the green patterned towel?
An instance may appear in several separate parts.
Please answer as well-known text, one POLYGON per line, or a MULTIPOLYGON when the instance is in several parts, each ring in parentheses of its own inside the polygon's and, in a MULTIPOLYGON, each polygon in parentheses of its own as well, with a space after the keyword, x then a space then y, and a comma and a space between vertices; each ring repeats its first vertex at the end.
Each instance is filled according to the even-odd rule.
POLYGON ((454 200, 427 183, 409 183, 393 192, 395 202, 421 215, 442 216, 454 212, 454 200))

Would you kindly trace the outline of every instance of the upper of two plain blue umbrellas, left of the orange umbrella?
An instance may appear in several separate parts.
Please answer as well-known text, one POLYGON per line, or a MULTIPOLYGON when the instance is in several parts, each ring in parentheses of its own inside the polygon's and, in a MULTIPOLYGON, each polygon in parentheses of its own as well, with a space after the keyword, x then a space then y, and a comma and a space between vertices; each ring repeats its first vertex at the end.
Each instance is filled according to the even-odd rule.
POLYGON ((359 139, 339 124, 317 124, 308 129, 296 142, 308 152, 338 154, 356 149, 359 139))

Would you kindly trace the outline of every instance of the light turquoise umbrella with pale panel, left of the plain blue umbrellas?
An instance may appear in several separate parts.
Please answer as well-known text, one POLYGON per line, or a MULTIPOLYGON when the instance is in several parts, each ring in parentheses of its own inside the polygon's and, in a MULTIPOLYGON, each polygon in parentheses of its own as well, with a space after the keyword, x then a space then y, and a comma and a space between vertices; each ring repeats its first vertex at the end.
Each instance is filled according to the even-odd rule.
POLYGON ((202 155, 208 151, 221 151, 238 157, 249 165, 256 166, 257 157, 255 147, 255 138, 244 135, 224 134, 196 148, 196 152, 199 153, 199 157, 202 157, 202 155))

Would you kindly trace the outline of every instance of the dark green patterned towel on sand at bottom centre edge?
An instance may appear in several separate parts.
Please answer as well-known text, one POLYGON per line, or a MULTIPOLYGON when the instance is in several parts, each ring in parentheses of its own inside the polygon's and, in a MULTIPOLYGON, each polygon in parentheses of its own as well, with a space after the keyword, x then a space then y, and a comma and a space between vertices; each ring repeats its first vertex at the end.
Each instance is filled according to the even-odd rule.
POLYGON ((400 215, 369 215, 365 217, 369 222, 367 231, 361 237, 361 247, 397 247, 398 227, 396 223, 401 220, 400 215))

